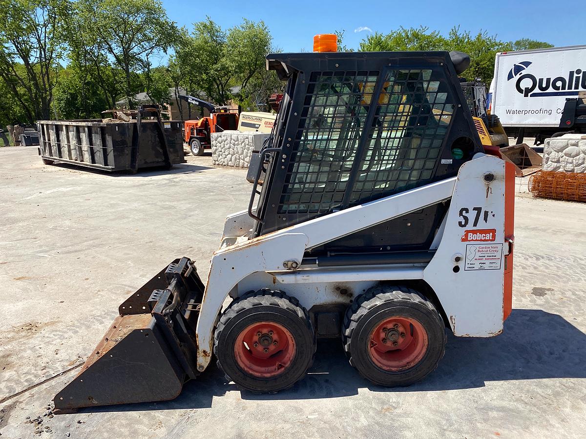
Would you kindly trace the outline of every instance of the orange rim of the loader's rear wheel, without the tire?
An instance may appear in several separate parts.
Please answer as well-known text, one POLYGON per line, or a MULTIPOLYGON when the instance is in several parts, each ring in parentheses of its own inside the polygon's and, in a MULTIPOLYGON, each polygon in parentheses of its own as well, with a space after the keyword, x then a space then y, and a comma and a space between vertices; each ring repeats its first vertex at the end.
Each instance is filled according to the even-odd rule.
POLYGON ((398 372, 421 361, 428 347, 427 332, 419 321, 390 317, 370 333, 369 354, 385 371, 398 372))

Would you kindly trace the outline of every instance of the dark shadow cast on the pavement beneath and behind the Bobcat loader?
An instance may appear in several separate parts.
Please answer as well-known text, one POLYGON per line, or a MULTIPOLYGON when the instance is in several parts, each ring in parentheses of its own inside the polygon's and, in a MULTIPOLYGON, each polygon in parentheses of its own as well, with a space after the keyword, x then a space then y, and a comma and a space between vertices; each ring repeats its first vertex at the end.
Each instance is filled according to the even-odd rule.
MULTIPOLYGON (((503 334, 494 338, 448 336, 444 359, 423 381, 409 387, 372 385, 350 366, 338 339, 318 342, 308 375, 292 389, 274 395, 242 391, 246 400, 323 399, 374 392, 425 392, 483 387, 487 381, 586 378, 586 334, 557 314, 513 310, 503 334)), ((172 401, 95 407, 89 411, 197 409, 212 406, 213 396, 238 390, 214 365, 187 383, 172 401)))

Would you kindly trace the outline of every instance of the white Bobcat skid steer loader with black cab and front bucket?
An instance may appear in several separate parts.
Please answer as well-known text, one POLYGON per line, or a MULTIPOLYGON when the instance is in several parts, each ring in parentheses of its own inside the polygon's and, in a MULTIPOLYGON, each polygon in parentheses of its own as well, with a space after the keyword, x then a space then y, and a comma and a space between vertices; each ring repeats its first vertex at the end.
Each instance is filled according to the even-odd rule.
POLYGON ((407 386, 437 367, 446 328, 500 334, 515 176, 482 148, 458 81, 468 63, 268 55, 287 85, 265 183, 226 218, 207 284, 188 258, 164 267, 121 304, 56 409, 173 399, 213 357, 242 389, 277 392, 328 337, 373 383, 407 386))

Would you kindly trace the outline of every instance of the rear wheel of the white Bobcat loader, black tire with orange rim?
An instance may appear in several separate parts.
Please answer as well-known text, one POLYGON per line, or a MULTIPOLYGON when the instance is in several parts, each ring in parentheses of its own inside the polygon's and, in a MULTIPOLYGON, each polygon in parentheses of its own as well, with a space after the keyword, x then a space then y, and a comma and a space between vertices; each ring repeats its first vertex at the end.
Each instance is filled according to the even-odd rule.
POLYGON ((408 386, 437 368, 447 337, 434 305, 403 286, 373 287, 347 310, 342 340, 350 364, 382 386, 408 386))

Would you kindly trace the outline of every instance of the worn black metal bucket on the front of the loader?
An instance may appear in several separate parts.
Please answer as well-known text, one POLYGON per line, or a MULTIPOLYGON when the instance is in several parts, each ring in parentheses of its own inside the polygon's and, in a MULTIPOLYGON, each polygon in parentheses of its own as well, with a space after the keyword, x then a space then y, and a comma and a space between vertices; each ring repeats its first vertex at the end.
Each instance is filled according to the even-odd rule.
POLYGON ((195 327, 204 286, 188 258, 176 259, 120 305, 120 315, 55 409, 170 400, 196 378, 195 327))

